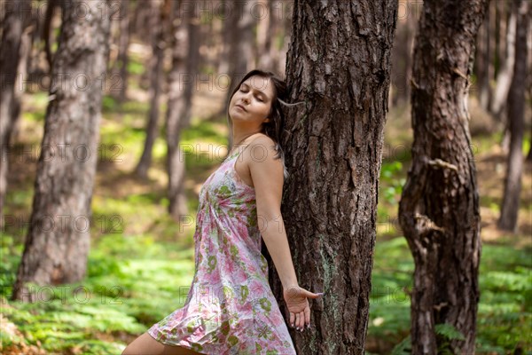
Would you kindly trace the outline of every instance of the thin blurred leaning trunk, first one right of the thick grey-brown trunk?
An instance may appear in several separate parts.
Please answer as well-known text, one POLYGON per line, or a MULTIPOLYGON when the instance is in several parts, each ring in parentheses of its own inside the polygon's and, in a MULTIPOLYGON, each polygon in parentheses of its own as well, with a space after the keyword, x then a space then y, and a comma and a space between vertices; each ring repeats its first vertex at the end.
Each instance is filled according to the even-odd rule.
POLYGON ((160 3, 159 20, 157 21, 155 34, 153 36, 153 67, 152 74, 150 75, 152 83, 150 84, 150 110, 148 113, 148 120, 146 125, 146 138, 145 146, 140 157, 140 161, 137 164, 135 170, 138 177, 147 178, 148 169, 152 165, 153 144, 155 138, 159 132, 159 111, 160 111, 160 92, 162 90, 162 74, 163 74, 163 60, 164 50, 166 47, 166 27, 164 24, 167 21, 168 6, 171 3, 169 0, 165 0, 164 3, 160 3))

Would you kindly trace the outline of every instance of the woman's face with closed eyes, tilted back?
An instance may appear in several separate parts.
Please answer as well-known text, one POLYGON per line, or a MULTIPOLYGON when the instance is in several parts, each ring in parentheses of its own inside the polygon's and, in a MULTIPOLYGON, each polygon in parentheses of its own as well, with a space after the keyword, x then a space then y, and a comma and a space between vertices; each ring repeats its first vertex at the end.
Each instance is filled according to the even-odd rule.
POLYGON ((273 83, 269 78, 258 75, 247 78, 229 103, 229 115, 233 123, 238 121, 260 126, 262 122, 269 122, 267 117, 273 96, 273 83))

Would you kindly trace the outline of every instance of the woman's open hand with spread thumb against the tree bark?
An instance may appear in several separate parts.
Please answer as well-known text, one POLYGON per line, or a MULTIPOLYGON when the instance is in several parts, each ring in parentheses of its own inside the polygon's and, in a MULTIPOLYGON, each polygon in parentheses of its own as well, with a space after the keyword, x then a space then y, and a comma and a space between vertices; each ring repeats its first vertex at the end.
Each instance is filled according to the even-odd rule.
POLYGON ((303 331, 305 325, 310 327, 310 307, 307 298, 317 298, 323 293, 314 294, 299 286, 290 286, 283 290, 286 306, 290 312, 290 326, 303 331))

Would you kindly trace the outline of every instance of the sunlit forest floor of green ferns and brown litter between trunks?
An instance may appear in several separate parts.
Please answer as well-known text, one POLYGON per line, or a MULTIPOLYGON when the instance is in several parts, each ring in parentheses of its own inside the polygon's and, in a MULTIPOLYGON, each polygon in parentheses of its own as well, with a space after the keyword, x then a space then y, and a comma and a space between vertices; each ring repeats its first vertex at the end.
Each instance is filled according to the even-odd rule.
MULTIPOLYGON (((86 280, 43 290, 43 298, 34 304, 8 301, 31 214, 47 105, 45 93, 26 94, 14 143, 30 153, 10 156, 5 226, 1 231, 0 351, 4 354, 120 353, 147 327, 183 304, 193 274, 193 225, 176 224, 166 213, 162 124, 148 179, 132 173, 145 137, 145 92, 145 88, 132 85, 129 100, 122 106, 110 96, 104 99, 86 280)), ((185 162, 191 215, 198 206, 201 184, 225 154, 227 124, 225 118, 213 118, 223 96, 199 91, 191 126, 183 133, 182 145, 192 146, 196 153, 216 155, 192 154, 185 162)), ((496 225, 505 154, 498 144, 500 134, 492 133, 496 130, 490 127, 489 115, 471 101, 483 243, 478 353, 506 354, 516 349, 531 353, 532 165, 527 163, 523 172, 518 232, 500 232, 496 225)), ((165 109, 162 105, 162 112, 165 109)), ((409 107, 391 108, 379 186, 368 353, 390 353, 408 336, 410 328, 407 295, 413 263, 396 223, 401 186, 410 165, 412 131, 405 127, 410 127, 409 107)), ((525 152, 530 146, 527 131, 525 152)), ((403 353, 400 348, 395 349, 396 353, 403 353)))

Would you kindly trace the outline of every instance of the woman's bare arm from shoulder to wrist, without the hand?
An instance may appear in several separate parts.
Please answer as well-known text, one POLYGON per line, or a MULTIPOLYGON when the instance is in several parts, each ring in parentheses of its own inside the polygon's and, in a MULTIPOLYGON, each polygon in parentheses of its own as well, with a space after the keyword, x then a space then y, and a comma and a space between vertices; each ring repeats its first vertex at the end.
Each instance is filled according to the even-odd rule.
POLYGON ((274 142, 262 136, 248 147, 249 170, 255 189, 257 218, 262 239, 270 252, 283 288, 298 286, 292 255, 281 216, 283 163, 275 159, 274 142))

